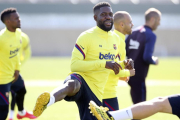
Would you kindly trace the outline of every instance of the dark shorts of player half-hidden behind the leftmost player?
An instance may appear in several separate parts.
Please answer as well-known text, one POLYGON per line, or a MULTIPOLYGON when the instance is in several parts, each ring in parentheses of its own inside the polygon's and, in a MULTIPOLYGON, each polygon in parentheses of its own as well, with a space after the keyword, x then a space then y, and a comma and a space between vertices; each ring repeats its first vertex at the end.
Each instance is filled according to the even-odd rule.
POLYGON ((14 92, 17 92, 19 91, 20 89, 24 88, 25 85, 24 85, 24 79, 21 77, 21 75, 19 75, 18 79, 16 80, 16 82, 14 82, 12 85, 11 85, 11 92, 14 93, 14 92))

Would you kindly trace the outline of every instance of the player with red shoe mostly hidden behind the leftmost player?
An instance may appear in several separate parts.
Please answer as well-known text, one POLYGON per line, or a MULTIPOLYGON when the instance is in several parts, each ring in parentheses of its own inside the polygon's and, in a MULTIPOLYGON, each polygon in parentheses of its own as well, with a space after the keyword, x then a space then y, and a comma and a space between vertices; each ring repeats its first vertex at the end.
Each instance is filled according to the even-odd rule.
MULTIPOLYGON (((24 32, 21 33, 21 37, 22 37, 22 47, 19 52, 20 52, 20 62, 21 62, 21 65, 23 65, 31 57, 31 47, 29 44, 29 37, 24 32)), ((16 102, 18 105, 18 110, 22 111, 22 112, 18 113, 17 117, 21 118, 21 116, 19 114, 23 114, 23 111, 24 111, 24 114, 26 113, 23 108, 24 95, 26 93, 26 89, 24 86, 24 80, 21 77, 21 75, 18 77, 18 80, 14 84, 12 84, 12 88, 16 89, 16 91, 19 91, 20 89, 22 89, 20 91, 23 91, 23 95, 19 96, 21 98, 18 99, 19 97, 16 96, 16 93, 14 92, 14 90, 11 90, 12 100, 11 100, 11 110, 9 111, 9 120, 13 120, 14 107, 15 107, 16 102), (14 88, 13 86, 15 86, 15 85, 18 85, 19 87, 14 88), (16 99, 17 99, 17 101, 16 101, 16 99), (18 102, 18 101, 20 101, 20 102, 18 102)), ((31 114, 29 115, 28 113, 25 116, 27 116, 29 118, 35 118, 33 115, 31 115, 31 114)))

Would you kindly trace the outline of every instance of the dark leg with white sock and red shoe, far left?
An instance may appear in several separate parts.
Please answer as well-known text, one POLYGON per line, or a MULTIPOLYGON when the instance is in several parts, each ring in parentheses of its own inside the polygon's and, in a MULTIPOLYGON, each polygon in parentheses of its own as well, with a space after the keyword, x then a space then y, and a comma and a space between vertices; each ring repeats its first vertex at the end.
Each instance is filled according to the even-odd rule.
POLYGON ((21 75, 19 75, 17 81, 12 84, 11 90, 15 91, 16 93, 15 98, 16 98, 16 104, 18 107, 17 118, 18 119, 22 119, 22 118, 35 119, 36 117, 33 114, 31 114, 30 112, 27 112, 24 109, 24 97, 26 94, 26 88, 24 85, 24 80, 21 77, 21 75))

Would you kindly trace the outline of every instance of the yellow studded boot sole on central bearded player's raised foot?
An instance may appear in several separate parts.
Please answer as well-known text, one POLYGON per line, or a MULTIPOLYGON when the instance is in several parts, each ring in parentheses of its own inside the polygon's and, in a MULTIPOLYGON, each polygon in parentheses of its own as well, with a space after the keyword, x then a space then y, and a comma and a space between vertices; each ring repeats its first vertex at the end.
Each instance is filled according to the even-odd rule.
POLYGON ((33 114, 36 117, 39 117, 42 112, 46 109, 47 104, 50 99, 50 93, 49 92, 44 92, 39 97, 37 98, 36 105, 33 110, 33 114))

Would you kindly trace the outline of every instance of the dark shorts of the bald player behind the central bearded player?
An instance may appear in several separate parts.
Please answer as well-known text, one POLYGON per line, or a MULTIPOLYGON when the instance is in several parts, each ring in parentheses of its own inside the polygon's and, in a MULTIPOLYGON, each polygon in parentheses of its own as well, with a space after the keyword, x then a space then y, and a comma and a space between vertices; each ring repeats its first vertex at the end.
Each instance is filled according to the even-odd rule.
POLYGON ((117 97, 110 99, 103 99, 103 106, 108 107, 109 111, 119 110, 119 104, 117 97))

